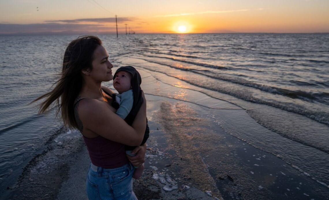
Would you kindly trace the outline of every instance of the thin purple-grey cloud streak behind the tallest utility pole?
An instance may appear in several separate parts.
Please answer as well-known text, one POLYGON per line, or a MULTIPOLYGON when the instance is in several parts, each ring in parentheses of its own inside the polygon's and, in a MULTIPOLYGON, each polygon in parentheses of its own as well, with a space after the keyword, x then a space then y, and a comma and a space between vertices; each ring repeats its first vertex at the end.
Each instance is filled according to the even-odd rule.
MULTIPOLYGON (((134 21, 135 17, 120 17, 117 22, 134 21)), ((79 22, 96 22, 96 23, 115 23, 115 17, 109 18, 86 18, 86 19, 68 19, 68 20, 47 20, 45 22, 63 22, 63 23, 79 23, 79 22)))

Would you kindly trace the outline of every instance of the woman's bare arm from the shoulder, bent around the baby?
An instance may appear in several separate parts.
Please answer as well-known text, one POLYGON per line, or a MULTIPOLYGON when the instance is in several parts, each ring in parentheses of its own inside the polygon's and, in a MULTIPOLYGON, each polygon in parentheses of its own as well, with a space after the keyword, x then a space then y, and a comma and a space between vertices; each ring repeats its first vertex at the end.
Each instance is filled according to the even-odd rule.
POLYGON ((79 102, 78 115, 84 132, 92 132, 104 138, 130 146, 142 142, 146 128, 146 100, 132 124, 129 126, 123 119, 110 110, 110 106, 102 101, 86 99, 79 102))

